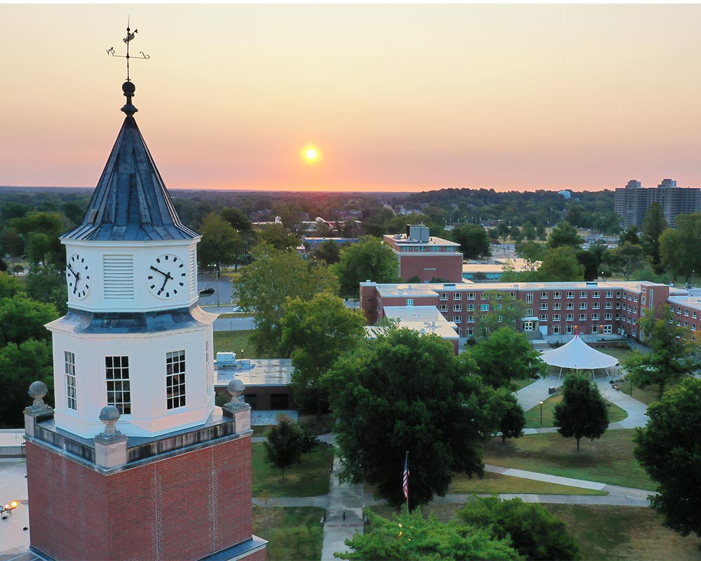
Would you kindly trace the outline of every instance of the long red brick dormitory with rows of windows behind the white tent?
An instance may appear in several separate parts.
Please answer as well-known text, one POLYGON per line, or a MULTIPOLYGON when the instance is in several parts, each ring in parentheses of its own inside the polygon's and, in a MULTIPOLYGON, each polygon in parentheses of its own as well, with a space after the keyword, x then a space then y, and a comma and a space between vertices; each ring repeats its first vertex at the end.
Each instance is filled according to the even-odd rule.
MULTIPOLYGON (((420 323, 423 316, 432 318, 424 329, 446 332, 451 327, 457 337, 472 336, 479 314, 498 312, 513 300, 526 306, 517 330, 543 337, 580 332, 641 340, 639 319, 663 303, 672 306, 676 324, 688 330, 692 341, 701 330, 701 297, 647 281, 360 283, 360 306, 368 325, 384 317, 404 323, 414 316, 414 323, 420 323)), ((454 346, 457 352, 455 341, 454 346)))

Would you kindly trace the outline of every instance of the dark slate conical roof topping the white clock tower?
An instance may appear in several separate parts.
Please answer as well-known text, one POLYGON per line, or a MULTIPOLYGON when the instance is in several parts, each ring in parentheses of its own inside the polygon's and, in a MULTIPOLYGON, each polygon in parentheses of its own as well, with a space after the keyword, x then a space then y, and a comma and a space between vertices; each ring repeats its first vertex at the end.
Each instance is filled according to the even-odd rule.
POLYGON ((180 222, 144 137, 128 113, 83 223, 62 239, 161 241, 197 237, 199 234, 180 222))

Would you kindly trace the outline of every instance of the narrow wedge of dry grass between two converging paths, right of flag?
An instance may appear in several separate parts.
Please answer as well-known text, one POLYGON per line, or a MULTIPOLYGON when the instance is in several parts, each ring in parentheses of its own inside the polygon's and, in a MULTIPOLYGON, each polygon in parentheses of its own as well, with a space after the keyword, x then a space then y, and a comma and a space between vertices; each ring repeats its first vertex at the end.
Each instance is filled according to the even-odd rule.
POLYGON ((557 485, 544 481, 513 478, 499 473, 485 473, 484 478, 468 478, 467 475, 455 475, 448 489, 449 493, 533 493, 544 495, 607 495, 606 491, 580 489, 569 485, 557 485))

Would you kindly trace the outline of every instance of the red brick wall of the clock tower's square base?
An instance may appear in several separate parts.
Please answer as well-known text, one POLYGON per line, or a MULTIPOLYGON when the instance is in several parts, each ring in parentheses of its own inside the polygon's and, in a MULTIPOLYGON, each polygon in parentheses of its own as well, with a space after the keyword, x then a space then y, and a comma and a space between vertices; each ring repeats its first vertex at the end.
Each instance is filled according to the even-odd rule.
POLYGON ((250 438, 112 475, 28 442, 27 484, 30 543, 56 560, 198 560, 252 535, 250 438))

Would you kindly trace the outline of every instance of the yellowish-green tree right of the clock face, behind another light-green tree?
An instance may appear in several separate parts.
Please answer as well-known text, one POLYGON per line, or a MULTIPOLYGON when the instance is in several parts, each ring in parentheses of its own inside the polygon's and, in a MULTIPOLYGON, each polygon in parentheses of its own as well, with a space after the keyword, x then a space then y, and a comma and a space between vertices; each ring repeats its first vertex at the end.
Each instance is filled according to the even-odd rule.
POLYGON ((234 290, 239 305, 254 313, 257 351, 281 356, 280 322, 287 297, 311 300, 317 292, 336 292, 338 280, 325 266, 310 266, 297 252, 276 250, 267 243, 256 245, 252 256, 234 290))

